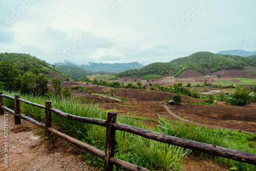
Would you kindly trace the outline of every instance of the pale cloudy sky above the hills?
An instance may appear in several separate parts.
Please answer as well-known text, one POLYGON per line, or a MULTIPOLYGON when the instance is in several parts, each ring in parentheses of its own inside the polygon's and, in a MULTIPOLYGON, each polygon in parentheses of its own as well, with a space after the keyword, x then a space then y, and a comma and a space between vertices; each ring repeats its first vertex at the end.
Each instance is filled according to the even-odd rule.
POLYGON ((49 63, 166 62, 256 50, 256 1, 0 1, 0 53, 49 63))

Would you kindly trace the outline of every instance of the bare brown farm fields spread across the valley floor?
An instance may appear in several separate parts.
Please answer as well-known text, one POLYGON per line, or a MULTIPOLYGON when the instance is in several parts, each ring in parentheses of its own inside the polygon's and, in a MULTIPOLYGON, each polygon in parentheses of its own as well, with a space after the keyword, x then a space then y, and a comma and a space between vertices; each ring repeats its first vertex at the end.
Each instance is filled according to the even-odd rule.
MULTIPOLYGON (((132 78, 130 78, 132 79, 132 78)), ((166 79, 156 79, 155 83, 170 83, 169 79, 175 81, 181 81, 182 79, 166 77, 166 79)), ((203 80, 203 78, 196 78, 196 80, 203 80)), ((126 78, 126 80, 129 80, 126 78)), ((186 79, 193 80, 191 78, 186 79)), ((215 79, 212 79, 212 82, 215 79)), ((219 80, 219 79, 218 79, 219 80)), ((236 81, 234 78, 229 78, 229 80, 236 81)), ((256 81, 256 80, 255 80, 256 81)), ((193 81, 191 81, 192 83, 193 81)), ((202 81, 203 82, 203 81, 202 81)), ((146 82, 143 82, 146 83, 146 82)), ((218 83, 216 81, 216 83, 218 83)), ((117 112, 118 115, 131 114, 136 117, 146 118, 148 121, 159 120, 158 114, 170 120, 176 120, 168 110, 166 110, 166 100, 171 99, 175 93, 161 92, 161 91, 151 91, 151 90, 140 90, 140 89, 122 89, 113 88, 114 97, 113 98, 109 91, 112 88, 109 87, 95 87, 93 84, 83 84, 78 82, 61 82, 62 87, 69 86, 74 87, 84 87, 84 92, 79 92, 72 90, 72 96, 77 96, 82 99, 92 101, 93 103, 99 103, 99 105, 106 111, 117 112), (88 94, 88 92, 92 94, 88 94), (97 93, 97 94, 94 94, 97 93), (105 95, 103 95, 105 94, 105 95), (109 97, 108 97, 109 96, 109 97), (123 101, 121 101, 121 100, 123 101)), ((193 91, 200 91, 202 94, 211 93, 218 94, 220 91, 231 92, 234 89, 224 89, 224 88, 202 88, 193 87, 189 88, 193 91), (201 89, 201 90, 200 90, 201 89)), ((224 105, 224 101, 218 101, 214 105, 200 105, 196 104, 203 99, 197 99, 189 96, 182 95, 183 103, 179 105, 168 105, 167 108, 172 111, 175 115, 193 122, 197 122, 202 125, 214 126, 225 129, 233 130, 243 130, 250 133, 256 130, 256 110, 255 103, 248 104, 249 106, 232 106, 224 105), (189 103, 188 103, 189 99, 189 103)))

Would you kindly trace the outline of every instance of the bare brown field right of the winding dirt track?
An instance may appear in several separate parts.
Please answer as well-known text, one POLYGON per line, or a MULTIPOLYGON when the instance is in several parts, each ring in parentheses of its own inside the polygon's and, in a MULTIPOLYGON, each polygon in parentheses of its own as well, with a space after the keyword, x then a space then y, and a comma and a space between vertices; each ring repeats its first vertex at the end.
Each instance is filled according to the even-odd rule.
POLYGON ((246 106, 181 104, 172 112, 198 123, 255 132, 256 110, 246 106))

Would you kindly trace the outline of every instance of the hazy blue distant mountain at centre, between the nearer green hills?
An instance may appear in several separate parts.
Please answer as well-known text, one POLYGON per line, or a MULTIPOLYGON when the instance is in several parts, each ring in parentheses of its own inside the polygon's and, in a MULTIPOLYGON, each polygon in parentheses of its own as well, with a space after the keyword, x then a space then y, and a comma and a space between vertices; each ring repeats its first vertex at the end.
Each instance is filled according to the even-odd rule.
POLYGON ((139 69, 143 66, 138 62, 130 62, 130 63, 95 63, 89 62, 89 65, 76 65, 70 61, 65 61, 65 63, 56 63, 56 65, 70 65, 75 67, 83 68, 84 70, 91 71, 91 72, 112 72, 112 73, 119 73, 122 71, 130 70, 130 69, 139 69))

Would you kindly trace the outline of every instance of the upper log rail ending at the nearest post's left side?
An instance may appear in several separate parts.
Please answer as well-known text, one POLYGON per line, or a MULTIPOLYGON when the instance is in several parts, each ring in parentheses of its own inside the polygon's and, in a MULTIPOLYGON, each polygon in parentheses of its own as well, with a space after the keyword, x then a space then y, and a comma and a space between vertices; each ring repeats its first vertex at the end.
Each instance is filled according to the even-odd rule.
POLYGON ((106 120, 103 120, 103 119, 87 118, 87 117, 80 117, 80 116, 76 116, 76 115, 71 115, 71 114, 67 114, 65 112, 61 112, 60 110, 55 109, 55 108, 49 108, 49 110, 54 112, 58 116, 61 116, 63 118, 67 118, 69 120, 75 120, 75 121, 83 122, 83 123, 91 123, 91 124, 106 127, 106 120))

